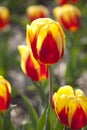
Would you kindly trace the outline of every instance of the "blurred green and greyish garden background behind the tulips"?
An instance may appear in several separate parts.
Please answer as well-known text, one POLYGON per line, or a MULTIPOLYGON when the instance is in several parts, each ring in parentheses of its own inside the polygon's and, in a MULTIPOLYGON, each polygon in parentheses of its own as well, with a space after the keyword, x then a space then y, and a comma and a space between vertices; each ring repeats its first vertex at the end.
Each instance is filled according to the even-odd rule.
MULTIPOLYGON (((27 113, 14 88, 27 95, 39 113, 40 98, 32 80, 21 70, 18 53, 18 45, 26 44, 26 25, 30 24, 26 10, 31 5, 44 5, 52 19, 55 19, 53 8, 60 6, 55 0, 0 0, 0 6, 7 7, 10 12, 8 27, 0 30, 0 75, 7 78, 13 88, 12 103, 18 107, 12 113, 12 120, 16 125, 27 118, 27 113)), ((75 6, 81 11, 81 26, 74 33, 64 28, 66 50, 63 59, 53 66, 54 91, 64 84, 71 84, 82 88, 87 94, 87 0, 79 0, 75 6)), ((48 81, 44 81, 43 85, 48 94, 48 81)))

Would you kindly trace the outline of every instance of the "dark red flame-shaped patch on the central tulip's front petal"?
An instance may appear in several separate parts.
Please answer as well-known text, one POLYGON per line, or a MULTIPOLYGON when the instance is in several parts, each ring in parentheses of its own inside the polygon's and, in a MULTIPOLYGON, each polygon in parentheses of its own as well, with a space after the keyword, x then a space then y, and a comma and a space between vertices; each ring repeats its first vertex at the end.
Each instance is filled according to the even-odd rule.
POLYGON ((60 59, 57 43, 50 32, 43 41, 39 56, 40 61, 44 64, 53 64, 60 59))

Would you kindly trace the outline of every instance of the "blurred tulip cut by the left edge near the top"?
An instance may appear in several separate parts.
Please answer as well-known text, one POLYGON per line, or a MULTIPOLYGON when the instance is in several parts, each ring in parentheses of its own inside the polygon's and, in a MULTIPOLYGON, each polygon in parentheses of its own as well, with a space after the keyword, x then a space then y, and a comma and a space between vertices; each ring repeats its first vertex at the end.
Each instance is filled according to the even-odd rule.
POLYGON ((10 13, 7 7, 0 6, 0 30, 9 25, 10 13))

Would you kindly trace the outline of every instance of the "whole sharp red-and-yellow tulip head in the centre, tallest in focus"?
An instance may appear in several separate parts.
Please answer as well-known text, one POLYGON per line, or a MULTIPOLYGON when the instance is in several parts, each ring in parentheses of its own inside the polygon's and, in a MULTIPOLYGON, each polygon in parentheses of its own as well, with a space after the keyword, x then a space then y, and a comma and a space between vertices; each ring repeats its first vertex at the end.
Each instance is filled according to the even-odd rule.
POLYGON ((58 22, 40 18, 27 25, 27 43, 35 59, 43 64, 54 64, 63 57, 65 35, 58 22))

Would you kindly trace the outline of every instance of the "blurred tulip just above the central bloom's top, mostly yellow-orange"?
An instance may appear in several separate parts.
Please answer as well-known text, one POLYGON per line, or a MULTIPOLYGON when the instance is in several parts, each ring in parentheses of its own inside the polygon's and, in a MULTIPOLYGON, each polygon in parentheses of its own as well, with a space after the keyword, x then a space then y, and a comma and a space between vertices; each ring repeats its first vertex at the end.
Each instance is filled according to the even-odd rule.
POLYGON ((26 10, 29 21, 33 21, 37 18, 45 18, 49 16, 48 9, 43 5, 32 5, 26 10))

